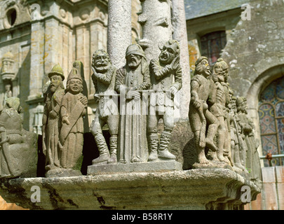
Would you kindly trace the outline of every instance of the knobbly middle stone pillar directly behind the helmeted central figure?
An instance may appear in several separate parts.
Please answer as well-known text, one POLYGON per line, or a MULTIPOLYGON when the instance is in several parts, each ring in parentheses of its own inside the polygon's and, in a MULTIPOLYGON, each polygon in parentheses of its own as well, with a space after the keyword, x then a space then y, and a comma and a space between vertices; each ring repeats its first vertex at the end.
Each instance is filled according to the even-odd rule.
POLYGON ((139 44, 145 51, 147 59, 157 59, 162 45, 172 37, 171 1, 140 0, 142 12, 138 22, 142 25, 142 40, 139 44))

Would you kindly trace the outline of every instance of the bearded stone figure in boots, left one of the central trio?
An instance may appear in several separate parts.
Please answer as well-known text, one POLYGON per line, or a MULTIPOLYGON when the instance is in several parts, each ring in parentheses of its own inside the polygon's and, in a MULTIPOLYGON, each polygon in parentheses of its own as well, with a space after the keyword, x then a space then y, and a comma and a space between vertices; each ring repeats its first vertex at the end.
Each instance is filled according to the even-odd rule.
POLYGON ((119 132, 118 97, 114 91, 116 68, 111 64, 109 55, 104 50, 97 50, 93 54, 92 80, 95 85, 95 100, 97 110, 91 125, 91 132, 95 137, 100 157, 93 160, 93 165, 102 162, 117 162, 117 135, 119 132), (110 137, 110 152, 102 134, 102 127, 108 125, 110 137))

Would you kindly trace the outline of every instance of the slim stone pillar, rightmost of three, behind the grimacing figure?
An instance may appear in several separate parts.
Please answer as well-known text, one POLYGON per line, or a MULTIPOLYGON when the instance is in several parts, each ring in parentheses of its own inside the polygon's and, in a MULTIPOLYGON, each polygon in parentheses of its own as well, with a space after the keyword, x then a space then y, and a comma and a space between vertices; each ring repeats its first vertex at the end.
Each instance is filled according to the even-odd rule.
POLYGON ((180 90, 180 116, 188 120, 190 100, 189 45, 184 0, 173 0, 172 10, 173 39, 180 42, 180 65, 182 66, 182 89, 180 90))

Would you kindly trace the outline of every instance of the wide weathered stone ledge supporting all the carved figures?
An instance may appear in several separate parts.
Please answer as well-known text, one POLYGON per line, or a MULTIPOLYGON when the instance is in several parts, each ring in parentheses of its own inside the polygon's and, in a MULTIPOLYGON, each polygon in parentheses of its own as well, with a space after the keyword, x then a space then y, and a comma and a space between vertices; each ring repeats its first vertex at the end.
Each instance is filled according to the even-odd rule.
POLYGON ((27 209, 243 209, 241 188, 251 200, 255 183, 229 169, 191 169, 55 178, 0 179, 0 195, 27 209), (33 186, 41 202, 32 202, 33 186))

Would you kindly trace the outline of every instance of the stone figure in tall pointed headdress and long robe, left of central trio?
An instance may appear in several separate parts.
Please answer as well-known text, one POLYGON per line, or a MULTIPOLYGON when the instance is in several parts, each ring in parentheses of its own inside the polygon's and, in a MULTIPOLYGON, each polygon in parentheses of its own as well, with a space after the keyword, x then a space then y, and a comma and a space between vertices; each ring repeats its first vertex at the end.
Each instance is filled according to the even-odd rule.
POLYGON ((60 110, 60 165, 65 169, 74 168, 83 151, 83 116, 87 113, 88 99, 82 92, 83 80, 74 62, 60 110))

